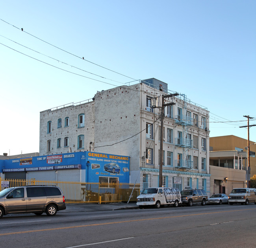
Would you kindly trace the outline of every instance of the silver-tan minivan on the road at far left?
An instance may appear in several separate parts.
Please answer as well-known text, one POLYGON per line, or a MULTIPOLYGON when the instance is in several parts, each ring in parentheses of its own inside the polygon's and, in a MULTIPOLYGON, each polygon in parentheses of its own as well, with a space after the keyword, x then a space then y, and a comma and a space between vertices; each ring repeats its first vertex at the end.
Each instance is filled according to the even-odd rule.
POLYGON ((0 191, 0 218, 10 213, 54 216, 64 209, 65 197, 57 186, 22 186, 0 191))

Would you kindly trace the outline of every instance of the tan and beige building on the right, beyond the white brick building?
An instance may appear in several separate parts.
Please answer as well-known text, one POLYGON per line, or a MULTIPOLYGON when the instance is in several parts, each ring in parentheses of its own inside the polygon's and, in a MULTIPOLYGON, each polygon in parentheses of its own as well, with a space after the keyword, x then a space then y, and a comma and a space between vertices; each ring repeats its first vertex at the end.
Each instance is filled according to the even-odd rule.
POLYGON ((247 170, 247 140, 234 135, 210 138, 210 192, 226 193, 246 187, 256 174, 256 145, 250 141, 250 169, 247 170), (224 178, 227 178, 225 180, 224 178))

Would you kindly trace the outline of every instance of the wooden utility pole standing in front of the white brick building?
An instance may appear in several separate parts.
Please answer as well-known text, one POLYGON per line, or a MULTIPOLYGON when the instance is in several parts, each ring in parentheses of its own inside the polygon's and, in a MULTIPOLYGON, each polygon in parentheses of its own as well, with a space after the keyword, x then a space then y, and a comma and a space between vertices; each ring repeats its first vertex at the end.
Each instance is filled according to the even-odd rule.
POLYGON ((160 127, 160 164, 159 164, 159 187, 163 186, 163 118, 165 116, 164 114, 164 109, 166 106, 174 105, 175 103, 166 103, 165 104, 165 99, 169 97, 174 97, 178 96, 178 93, 174 94, 169 94, 169 95, 162 95, 162 105, 161 107, 157 107, 156 104, 152 104, 152 108, 160 108, 161 109, 161 114, 160 114, 160 119, 161 119, 161 127, 160 127))

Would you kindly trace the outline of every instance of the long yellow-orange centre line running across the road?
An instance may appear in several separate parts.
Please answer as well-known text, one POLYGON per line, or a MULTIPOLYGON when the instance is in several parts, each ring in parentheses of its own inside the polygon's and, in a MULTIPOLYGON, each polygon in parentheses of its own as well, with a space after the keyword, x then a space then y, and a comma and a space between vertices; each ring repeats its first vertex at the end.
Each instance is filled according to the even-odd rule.
POLYGON ((161 220, 161 219, 171 219, 171 218, 188 217, 188 216, 196 216, 196 215, 209 215, 209 214, 213 214, 213 213, 228 213, 228 212, 237 212, 237 211, 248 211, 248 210, 255 210, 255 208, 229 210, 229 211, 219 211, 219 212, 210 212, 210 213, 194 213, 194 214, 191 214, 191 215, 177 215, 177 216, 158 217, 158 218, 139 219, 139 220, 123 220, 123 221, 105 222, 105 223, 88 224, 88 225, 80 225, 80 226, 65 226, 65 227, 57 227, 57 228, 48 228, 48 229, 41 229, 41 230, 17 231, 17 232, 13 232, 13 233, 0 233, 0 236, 13 235, 13 234, 22 234, 22 233, 33 233, 33 232, 40 232, 40 231, 64 230, 64 229, 70 229, 70 228, 82 228, 82 227, 88 227, 88 226, 103 226, 103 225, 120 224, 120 223, 145 221, 145 220, 161 220))

